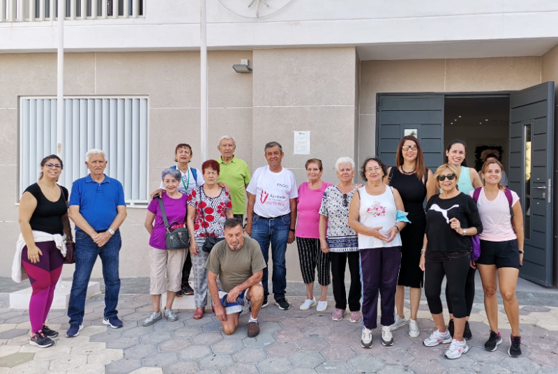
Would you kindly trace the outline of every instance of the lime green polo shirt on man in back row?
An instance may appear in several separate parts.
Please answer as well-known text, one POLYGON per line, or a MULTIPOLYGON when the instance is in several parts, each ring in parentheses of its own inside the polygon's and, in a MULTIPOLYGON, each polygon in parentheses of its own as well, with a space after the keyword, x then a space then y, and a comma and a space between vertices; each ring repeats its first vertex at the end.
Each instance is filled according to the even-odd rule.
POLYGON ((232 160, 227 164, 222 158, 218 158, 220 166, 219 181, 229 186, 232 213, 246 214, 246 195, 244 188, 250 183, 250 169, 240 158, 232 156, 232 160))

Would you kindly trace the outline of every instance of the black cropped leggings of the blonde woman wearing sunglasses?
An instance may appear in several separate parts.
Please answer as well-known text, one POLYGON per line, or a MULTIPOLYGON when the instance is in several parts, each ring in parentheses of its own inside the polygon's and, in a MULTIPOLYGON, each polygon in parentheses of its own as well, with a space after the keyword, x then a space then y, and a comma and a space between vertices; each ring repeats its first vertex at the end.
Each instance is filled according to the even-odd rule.
POLYGON ((430 313, 442 313, 442 281, 447 279, 449 297, 455 318, 467 317, 465 283, 470 268, 470 256, 461 253, 426 253, 424 293, 430 313))

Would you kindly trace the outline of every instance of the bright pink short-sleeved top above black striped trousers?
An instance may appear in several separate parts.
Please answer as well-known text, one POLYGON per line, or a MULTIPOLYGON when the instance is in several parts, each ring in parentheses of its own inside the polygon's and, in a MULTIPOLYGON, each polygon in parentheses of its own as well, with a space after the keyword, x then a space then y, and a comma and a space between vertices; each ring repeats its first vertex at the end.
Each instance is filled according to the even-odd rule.
POLYGON ((308 187, 304 182, 299 187, 299 197, 296 199, 296 211, 299 218, 296 220, 296 231, 294 234, 299 238, 319 239, 319 207, 322 206, 322 196, 331 183, 322 182, 317 190, 308 187))

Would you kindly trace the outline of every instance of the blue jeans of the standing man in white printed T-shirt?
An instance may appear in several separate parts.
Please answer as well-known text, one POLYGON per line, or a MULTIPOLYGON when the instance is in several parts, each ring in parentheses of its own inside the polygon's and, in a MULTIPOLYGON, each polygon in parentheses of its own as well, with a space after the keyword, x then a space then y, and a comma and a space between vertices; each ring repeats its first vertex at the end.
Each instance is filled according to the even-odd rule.
MULTIPOLYGON (((287 239, 289 239, 291 216, 280 219, 266 220, 254 214, 252 218, 252 239, 256 239, 262 249, 266 264, 269 261, 269 244, 271 243, 271 259, 273 260, 273 298, 276 301, 285 299, 287 288, 287 267, 285 267, 285 252, 287 252, 287 239)), ((264 269, 262 285, 264 286, 264 299, 267 300, 269 290, 267 287, 268 268, 264 269)))

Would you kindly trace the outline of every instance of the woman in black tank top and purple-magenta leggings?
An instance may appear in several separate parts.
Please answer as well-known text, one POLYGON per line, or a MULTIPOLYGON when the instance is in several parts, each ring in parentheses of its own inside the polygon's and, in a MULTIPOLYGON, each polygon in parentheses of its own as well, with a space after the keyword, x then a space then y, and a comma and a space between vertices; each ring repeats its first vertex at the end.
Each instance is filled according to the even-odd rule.
POLYGON ((54 344, 58 331, 45 322, 54 298, 54 288, 62 272, 66 253, 63 239, 68 237, 68 190, 56 184, 63 169, 62 160, 52 154, 40 162, 37 183, 27 187, 20 200, 20 239, 17 241, 12 278, 22 281, 27 273, 33 288, 29 301, 31 338, 29 344, 40 348, 54 344), (22 267, 24 272, 22 271, 22 267))

